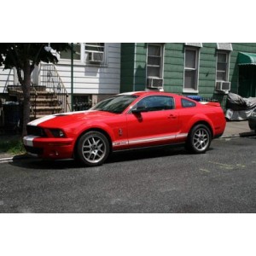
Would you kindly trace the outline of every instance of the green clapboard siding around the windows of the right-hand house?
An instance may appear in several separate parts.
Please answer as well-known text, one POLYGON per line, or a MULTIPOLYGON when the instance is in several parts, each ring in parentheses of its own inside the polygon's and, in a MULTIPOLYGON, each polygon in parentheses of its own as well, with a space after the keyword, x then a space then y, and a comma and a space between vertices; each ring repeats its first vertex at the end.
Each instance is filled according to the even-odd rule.
MULTIPOLYGON (((121 90, 145 90, 147 83, 147 43, 122 44, 121 49, 121 90)), ((183 93, 184 43, 166 43, 164 45, 163 79, 164 90, 183 93)), ((233 43, 230 51, 231 91, 238 93, 239 52, 256 53, 256 43, 233 43)), ((198 95, 213 97, 224 102, 226 96, 216 93, 217 43, 202 43, 200 48, 198 95)), ((256 67, 255 67, 256 68, 256 67)), ((244 89, 245 90, 245 89, 244 89)))

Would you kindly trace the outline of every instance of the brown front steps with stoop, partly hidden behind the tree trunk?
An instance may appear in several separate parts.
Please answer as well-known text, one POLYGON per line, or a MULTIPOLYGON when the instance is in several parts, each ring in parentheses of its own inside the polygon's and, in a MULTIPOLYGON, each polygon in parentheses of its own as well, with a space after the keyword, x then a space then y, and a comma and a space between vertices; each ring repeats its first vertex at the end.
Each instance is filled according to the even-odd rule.
MULTIPOLYGON (((17 102, 22 104, 23 93, 20 85, 9 85, 8 93, 10 97, 15 97, 17 102)), ((31 111, 30 118, 38 119, 53 113, 62 113, 62 103, 54 91, 46 90, 46 86, 31 86, 31 111)))

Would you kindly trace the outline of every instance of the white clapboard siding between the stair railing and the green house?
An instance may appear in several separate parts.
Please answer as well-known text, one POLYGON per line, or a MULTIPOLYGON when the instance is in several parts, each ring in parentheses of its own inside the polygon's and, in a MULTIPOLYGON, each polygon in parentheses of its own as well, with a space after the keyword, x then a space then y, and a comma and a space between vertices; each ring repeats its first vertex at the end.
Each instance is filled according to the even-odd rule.
MULTIPOLYGON (((74 61, 73 93, 74 94, 117 94, 120 86, 121 44, 106 43, 107 61, 102 66, 85 65, 74 61)), ((67 61, 56 65, 67 92, 71 93, 71 65, 67 61), (65 63, 66 62, 66 63, 65 63), (65 63, 65 64, 64 64, 65 63)))

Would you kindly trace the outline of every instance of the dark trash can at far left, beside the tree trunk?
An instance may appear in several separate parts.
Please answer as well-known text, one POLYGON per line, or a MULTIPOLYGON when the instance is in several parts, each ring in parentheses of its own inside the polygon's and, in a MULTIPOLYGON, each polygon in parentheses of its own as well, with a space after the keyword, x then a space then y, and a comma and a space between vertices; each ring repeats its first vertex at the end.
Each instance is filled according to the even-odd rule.
POLYGON ((3 117, 4 127, 6 127, 7 129, 17 128, 20 121, 19 102, 4 102, 3 117))

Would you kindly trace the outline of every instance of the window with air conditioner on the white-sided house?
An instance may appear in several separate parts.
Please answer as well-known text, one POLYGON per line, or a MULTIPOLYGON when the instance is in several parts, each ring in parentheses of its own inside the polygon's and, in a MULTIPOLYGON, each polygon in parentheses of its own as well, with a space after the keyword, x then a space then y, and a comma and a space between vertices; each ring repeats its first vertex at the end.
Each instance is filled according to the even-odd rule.
POLYGON ((104 61, 104 43, 85 43, 85 62, 101 64, 104 61))

